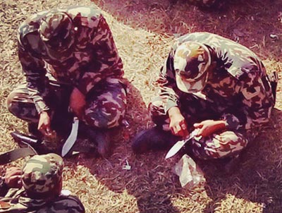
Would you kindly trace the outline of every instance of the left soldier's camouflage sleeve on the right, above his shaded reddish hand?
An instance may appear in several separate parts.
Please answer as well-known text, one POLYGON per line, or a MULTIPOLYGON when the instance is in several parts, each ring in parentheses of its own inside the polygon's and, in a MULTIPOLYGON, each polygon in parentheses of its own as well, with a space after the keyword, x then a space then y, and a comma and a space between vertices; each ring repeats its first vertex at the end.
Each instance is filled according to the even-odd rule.
POLYGON ((90 66, 78 82, 78 90, 83 94, 89 92, 100 80, 106 78, 121 78, 123 76, 123 63, 118 56, 109 25, 103 16, 99 17, 97 30, 93 31, 93 56, 90 66))

